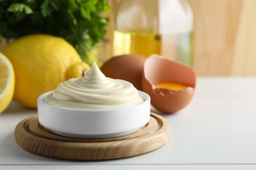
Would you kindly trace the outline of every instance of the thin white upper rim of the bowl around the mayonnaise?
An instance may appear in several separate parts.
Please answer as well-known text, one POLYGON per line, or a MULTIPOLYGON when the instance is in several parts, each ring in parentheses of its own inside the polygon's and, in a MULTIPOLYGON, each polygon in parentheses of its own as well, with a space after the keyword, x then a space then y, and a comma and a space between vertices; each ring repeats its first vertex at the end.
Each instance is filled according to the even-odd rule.
POLYGON ((128 108, 133 108, 133 107, 140 107, 140 105, 144 105, 144 103, 146 103, 147 101, 150 102, 150 95, 148 95, 148 93, 146 92, 142 92, 140 90, 138 90, 140 97, 142 97, 143 101, 142 103, 139 103, 137 105, 130 105, 130 106, 123 106, 123 107, 115 107, 115 108, 110 108, 110 109, 77 109, 77 108, 68 108, 68 107, 59 107, 59 106, 55 106, 55 105, 51 105, 49 103, 46 103, 44 101, 45 96, 47 96, 49 93, 53 93, 54 90, 43 93, 41 95, 39 95, 39 97, 37 98, 37 107, 39 105, 39 103, 43 104, 43 105, 47 105, 47 107, 53 107, 56 109, 62 109, 62 110, 74 110, 74 111, 87 111, 87 112, 106 112, 106 111, 114 111, 114 110, 119 110, 119 109, 128 109, 128 108))

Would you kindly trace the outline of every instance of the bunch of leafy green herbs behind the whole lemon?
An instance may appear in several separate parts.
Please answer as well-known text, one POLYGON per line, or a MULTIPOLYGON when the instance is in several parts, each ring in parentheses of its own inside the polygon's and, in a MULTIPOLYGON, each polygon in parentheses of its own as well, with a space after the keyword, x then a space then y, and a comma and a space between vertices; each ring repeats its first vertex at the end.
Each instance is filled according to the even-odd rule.
POLYGON ((0 0, 0 35, 43 33, 63 37, 84 61, 106 33, 108 0, 0 0))

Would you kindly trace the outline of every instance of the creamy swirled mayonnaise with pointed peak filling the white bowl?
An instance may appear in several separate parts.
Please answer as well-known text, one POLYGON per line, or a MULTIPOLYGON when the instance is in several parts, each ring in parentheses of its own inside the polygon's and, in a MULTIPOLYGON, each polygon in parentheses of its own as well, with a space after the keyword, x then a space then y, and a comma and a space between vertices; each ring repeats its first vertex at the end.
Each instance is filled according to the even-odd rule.
POLYGON ((81 78, 58 85, 45 103, 74 109, 110 109, 137 105, 144 101, 138 90, 125 80, 106 77, 96 63, 81 78))

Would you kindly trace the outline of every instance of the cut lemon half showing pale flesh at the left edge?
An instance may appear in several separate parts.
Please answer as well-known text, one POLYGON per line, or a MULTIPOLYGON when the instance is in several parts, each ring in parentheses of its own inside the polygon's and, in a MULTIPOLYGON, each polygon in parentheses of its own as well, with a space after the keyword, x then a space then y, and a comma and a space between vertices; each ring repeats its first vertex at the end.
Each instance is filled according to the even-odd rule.
POLYGON ((5 110, 12 100, 14 92, 14 71, 12 64, 0 53, 0 113, 5 110))

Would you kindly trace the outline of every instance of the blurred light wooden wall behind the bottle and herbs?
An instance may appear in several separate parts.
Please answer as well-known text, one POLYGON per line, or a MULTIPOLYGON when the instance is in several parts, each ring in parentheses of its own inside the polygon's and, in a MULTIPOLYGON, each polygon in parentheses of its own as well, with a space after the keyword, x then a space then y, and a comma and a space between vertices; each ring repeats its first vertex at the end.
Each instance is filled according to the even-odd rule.
MULTIPOLYGON (((182 2, 183 0, 181 0, 182 2)), ((110 25, 99 44, 103 61, 114 55, 118 0, 108 0, 110 25)), ((200 76, 256 75, 256 1, 188 0, 194 14, 193 67, 200 76)), ((2 39, 0 50, 5 46, 2 39)))

